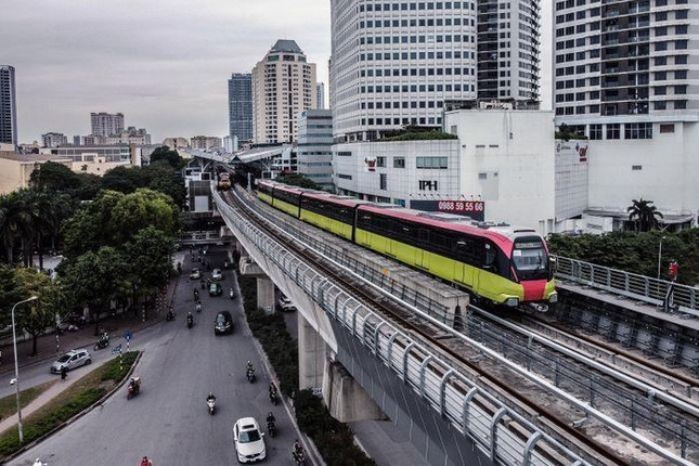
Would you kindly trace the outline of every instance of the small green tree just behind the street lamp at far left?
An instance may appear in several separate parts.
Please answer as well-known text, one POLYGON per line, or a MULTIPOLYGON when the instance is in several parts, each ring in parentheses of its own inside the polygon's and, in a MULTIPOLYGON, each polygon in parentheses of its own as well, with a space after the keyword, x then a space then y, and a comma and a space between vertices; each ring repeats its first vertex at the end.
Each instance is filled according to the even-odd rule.
POLYGON ((31 335, 31 355, 37 354, 39 337, 55 324, 56 314, 65 309, 61 286, 49 275, 35 268, 17 269, 23 296, 37 296, 39 299, 17 308, 17 325, 31 335))

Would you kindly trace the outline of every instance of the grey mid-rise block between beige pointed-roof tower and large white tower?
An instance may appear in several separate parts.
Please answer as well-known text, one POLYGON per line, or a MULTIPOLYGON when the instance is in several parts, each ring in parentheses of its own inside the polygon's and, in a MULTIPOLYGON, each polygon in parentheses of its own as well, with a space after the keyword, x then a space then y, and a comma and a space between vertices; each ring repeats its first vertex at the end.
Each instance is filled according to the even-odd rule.
POLYGON ((297 171, 324 187, 333 184, 333 115, 308 109, 298 116, 297 171))

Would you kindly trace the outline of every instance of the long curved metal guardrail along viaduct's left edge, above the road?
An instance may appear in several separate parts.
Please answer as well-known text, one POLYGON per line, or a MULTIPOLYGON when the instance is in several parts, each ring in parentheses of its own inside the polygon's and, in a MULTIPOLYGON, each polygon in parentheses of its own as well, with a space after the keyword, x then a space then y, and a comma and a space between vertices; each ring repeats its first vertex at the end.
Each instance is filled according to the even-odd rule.
POLYGON ((263 231, 245 220, 220 193, 213 199, 224 221, 244 234, 261 254, 274 262, 331 319, 339 321, 384 365, 464 436, 470 437, 494 463, 503 465, 586 465, 580 456, 538 429, 491 396, 467 375, 426 347, 365 308, 352 296, 292 255, 263 231), (491 405, 490 410, 484 406, 491 405), (492 407, 494 406, 494 407, 492 407), (555 455, 551 455, 556 452, 555 455), (553 458, 556 459, 553 459, 553 458))

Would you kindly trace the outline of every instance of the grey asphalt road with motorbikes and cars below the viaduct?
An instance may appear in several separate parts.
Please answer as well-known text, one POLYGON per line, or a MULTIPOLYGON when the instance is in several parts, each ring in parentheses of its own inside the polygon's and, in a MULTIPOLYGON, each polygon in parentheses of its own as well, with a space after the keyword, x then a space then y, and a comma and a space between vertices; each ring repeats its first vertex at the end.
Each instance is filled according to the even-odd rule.
MULTIPOLYGON (((209 250, 212 267, 223 264, 221 251, 209 250)), ((194 262, 199 266, 198 262, 194 262)), ((272 406, 267 392, 266 373, 254 340, 243 328, 240 298, 231 301, 228 290, 236 286, 233 271, 223 271, 223 295, 209 297, 199 288, 200 313, 193 312, 195 325, 186 328, 185 314, 194 311, 193 287, 187 276, 194 264, 184 262, 184 273, 176 290, 174 322, 164 322, 134 335, 133 348, 143 350, 137 374, 142 378, 141 393, 126 398, 119 389, 104 404, 28 450, 10 465, 31 465, 40 457, 49 466, 76 464, 137 465, 148 455, 154 466, 234 464, 232 440, 235 420, 254 416, 263 430, 264 417, 272 411, 277 436, 266 435, 267 464, 290 465, 290 449, 297 437, 286 409, 272 406), (215 336, 213 318, 230 310, 234 319, 232 335, 215 336), (245 378, 245 363, 251 360, 258 380, 245 378), (217 412, 209 415, 206 396, 217 396, 217 412)), ((210 276, 207 272, 205 276, 210 276)), ((237 289, 237 288, 236 288, 237 289)), ((240 296, 240 293, 236 292, 240 296)), ((92 351, 94 358, 108 358, 108 351, 92 351)), ((69 373, 76 377, 82 368, 69 373)), ((23 372, 24 387, 31 380, 50 378, 46 365, 23 372), (36 371, 36 373, 35 373, 36 371)), ((0 391, 8 391, 7 388, 0 391)))

